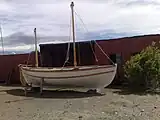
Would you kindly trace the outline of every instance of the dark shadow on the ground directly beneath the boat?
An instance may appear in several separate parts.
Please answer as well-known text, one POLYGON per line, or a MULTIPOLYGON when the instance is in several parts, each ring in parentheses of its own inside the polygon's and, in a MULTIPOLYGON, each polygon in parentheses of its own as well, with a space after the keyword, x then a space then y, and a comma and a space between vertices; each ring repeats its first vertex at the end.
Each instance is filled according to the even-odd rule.
MULTIPOLYGON (((8 94, 14 96, 25 96, 23 89, 10 89, 6 90, 8 94)), ((27 93, 27 97, 35 97, 35 98, 57 98, 57 99, 67 99, 67 98, 85 98, 85 97, 94 97, 94 96, 102 96, 98 93, 87 93, 87 92, 79 92, 72 90, 43 90, 43 95, 40 95, 39 92, 29 92, 27 93)))

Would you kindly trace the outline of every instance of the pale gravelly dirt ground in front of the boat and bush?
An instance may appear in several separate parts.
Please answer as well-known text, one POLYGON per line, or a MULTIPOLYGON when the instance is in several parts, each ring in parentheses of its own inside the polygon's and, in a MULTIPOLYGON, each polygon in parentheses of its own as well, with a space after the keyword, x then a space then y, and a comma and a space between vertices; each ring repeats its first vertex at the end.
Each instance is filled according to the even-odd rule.
POLYGON ((160 95, 107 88, 105 95, 0 86, 0 120, 159 120, 160 95))

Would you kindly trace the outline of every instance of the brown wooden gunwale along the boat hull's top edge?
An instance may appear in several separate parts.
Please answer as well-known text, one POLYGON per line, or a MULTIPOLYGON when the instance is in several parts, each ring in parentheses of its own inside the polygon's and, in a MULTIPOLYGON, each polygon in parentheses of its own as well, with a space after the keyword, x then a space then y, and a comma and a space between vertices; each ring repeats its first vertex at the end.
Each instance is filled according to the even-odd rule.
MULTIPOLYGON (((43 69, 43 70, 40 70, 40 69, 35 69, 35 67, 28 67, 28 66, 19 66, 21 69, 23 70, 26 70, 26 71, 30 71, 30 72, 75 72, 75 71, 88 71, 88 70, 96 70, 96 69, 104 69, 104 68, 117 68, 117 64, 115 65, 103 65, 103 66, 97 66, 94 68, 94 66, 96 65, 91 65, 91 66, 88 66, 89 68, 84 68, 84 69, 70 69, 70 70, 64 70, 62 67, 51 67, 51 68, 55 68, 57 70, 53 70, 51 68, 48 68, 48 67, 38 67, 38 68, 48 68, 48 69, 43 69), (33 68, 33 69, 32 69, 33 68), (61 69, 60 69, 61 68, 61 69)), ((86 67, 86 66, 80 66, 80 67, 86 67)), ((67 68, 71 68, 71 67, 67 67, 67 68)))

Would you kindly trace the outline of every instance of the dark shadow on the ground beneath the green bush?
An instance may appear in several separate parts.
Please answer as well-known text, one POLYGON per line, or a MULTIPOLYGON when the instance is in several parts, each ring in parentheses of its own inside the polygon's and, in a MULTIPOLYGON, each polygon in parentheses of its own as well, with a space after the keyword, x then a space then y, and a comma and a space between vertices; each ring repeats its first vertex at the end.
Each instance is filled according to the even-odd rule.
POLYGON ((128 85, 111 85, 108 87, 108 89, 113 89, 113 93, 119 94, 119 95, 155 95, 159 94, 158 91, 152 91, 152 90, 146 90, 144 87, 133 87, 128 85))

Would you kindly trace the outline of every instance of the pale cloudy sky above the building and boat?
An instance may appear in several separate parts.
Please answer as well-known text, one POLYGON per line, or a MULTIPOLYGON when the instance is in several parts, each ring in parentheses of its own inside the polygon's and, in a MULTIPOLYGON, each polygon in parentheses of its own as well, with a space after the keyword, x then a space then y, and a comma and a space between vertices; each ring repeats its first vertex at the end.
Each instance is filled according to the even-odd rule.
MULTIPOLYGON (((71 41, 70 3, 71 0, 0 0, 5 51, 34 50, 34 28, 39 44, 71 41)), ((77 41, 160 32, 160 0, 74 0, 74 3, 77 41)))

